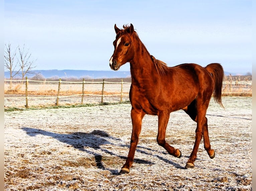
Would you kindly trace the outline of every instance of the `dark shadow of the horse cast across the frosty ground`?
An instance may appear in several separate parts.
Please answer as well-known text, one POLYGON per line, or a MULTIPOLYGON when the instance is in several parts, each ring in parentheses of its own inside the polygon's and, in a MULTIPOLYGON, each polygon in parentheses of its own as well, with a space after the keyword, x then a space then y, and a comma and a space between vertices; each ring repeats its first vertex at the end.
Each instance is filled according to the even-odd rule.
MULTIPOLYGON (((121 147, 129 147, 127 145, 122 144, 122 140, 113 136, 110 136, 108 133, 102 130, 93 130, 90 133, 85 133, 85 132, 75 132, 75 133, 70 133, 70 134, 60 134, 60 133, 54 133, 50 131, 45 131, 41 129, 36 129, 36 128, 30 128, 30 127, 21 127, 22 130, 24 130, 29 136, 36 136, 38 134, 45 135, 45 136, 50 136, 52 138, 57 139, 60 142, 66 143, 70 146, 73 146, 76 149, 79 149, 81 151, 87 152, 89 154, 92 154, 94 156, 96 166, 97 168, 103 169, 103 170, 109 170, 111 174, 119 174, 118 170, 113 170, 113 169, 108 169, 104 167, 104 164, 102 163, 102 155, 97 152, 97 150, 101 150, 107 154, 117 156, 121 159, 126 159, 126 156, 121 156, 118 154, 115 154, 111 152, 108 149, 101 148, 101 145, 105 144, 111 144, 111 145, 116 145, 116 146, 121 146, 121 147), (120 142, 120 144, 115 144, 113 142, 120 142), (92 148, 92 149, 86 149, 86 148, 92 148)), ((138 146, 138 148, 141 149, 147 149, 147 150, 152 150, 150 148, 145 148, 142 146, 138 146)), ((150 153, 137 149, 137 152, 141 152, 147 155, 151 155, 150 153)), ((158 156, 157 156, 158 157, 158 156)), ((169 161, 167 159, 163 159, 162 157, 158 157, 159 159, 163 160, 166 163, 173 164, 177 168, 182 168, 176 163, 173 163, 172 161, 169 161)), ((141 164, 154 164, 151 161, 148 160, 143 160, 143 159, 138 159, 134 158, 135 163, 141 163, 141 164)))

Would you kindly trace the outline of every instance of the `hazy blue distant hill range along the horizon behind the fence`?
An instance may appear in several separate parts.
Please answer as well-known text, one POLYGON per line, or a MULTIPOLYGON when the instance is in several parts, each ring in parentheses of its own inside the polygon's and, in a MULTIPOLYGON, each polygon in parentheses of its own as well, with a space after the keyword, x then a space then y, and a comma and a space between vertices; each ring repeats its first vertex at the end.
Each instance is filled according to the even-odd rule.
MULTIPOLYGON (((129 78, 131 77, 130 71, 90 71, 90 70, 33 70, 33 74, 28 74, 28 78, 38 77, 40 79, 108 79, 108 78, 129 78)), ((225 75, 233 73, 225 72, 225 75)), ((6 79, 10 78, 9 72, 4 72, 6 79)), ((15 76, 18 78, 18 76, 15 76)))

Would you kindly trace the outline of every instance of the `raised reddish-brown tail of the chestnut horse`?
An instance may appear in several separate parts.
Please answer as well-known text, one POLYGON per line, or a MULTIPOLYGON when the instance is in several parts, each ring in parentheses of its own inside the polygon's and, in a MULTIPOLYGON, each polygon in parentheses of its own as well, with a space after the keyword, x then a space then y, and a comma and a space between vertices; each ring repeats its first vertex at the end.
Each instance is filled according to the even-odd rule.
POLYGON ((214 100, 224 108, 224 106, 222 105, 222 100, 221 100, 222 81, 223 81, 223 77, 224 77, 224 70, 219 63, 209 64, 205 68, 214 79, 214 90, 213 90, 214 100))

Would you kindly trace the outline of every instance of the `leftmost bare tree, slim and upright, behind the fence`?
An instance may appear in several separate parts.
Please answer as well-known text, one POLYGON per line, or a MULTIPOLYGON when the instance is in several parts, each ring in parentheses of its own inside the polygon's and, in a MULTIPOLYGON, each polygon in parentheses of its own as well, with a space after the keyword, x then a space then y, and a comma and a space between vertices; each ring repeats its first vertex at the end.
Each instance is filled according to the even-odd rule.
MULTIPOLYGON (((4 67, 10 72, 10 80, 13 79, 14 76, 16 76, 20 69, 15 71, 16 66, 18 63, 14 64, 14 58, 16 56, 16 50, 17 48, 12 51, 11 50, 11 44, 8 43, 5 44, 5 50, 4 50, 4 67)), ((12 81, 10 81, 10 89, 12 87, 12 81)))

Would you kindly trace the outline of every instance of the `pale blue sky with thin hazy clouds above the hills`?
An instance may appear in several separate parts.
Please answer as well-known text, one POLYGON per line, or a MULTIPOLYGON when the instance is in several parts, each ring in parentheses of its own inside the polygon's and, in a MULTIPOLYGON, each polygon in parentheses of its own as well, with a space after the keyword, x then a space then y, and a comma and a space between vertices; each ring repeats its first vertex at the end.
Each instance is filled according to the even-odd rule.
MULTIPOLYGON (((252 72, 252 1, 6 0, 4 42, 25 44, 37 70, 111 70, 119 28, 132 23, 149 53, 168 66, 221 63, 252 72)), ((121 67, 129 71, 129 63, 121 67)))

